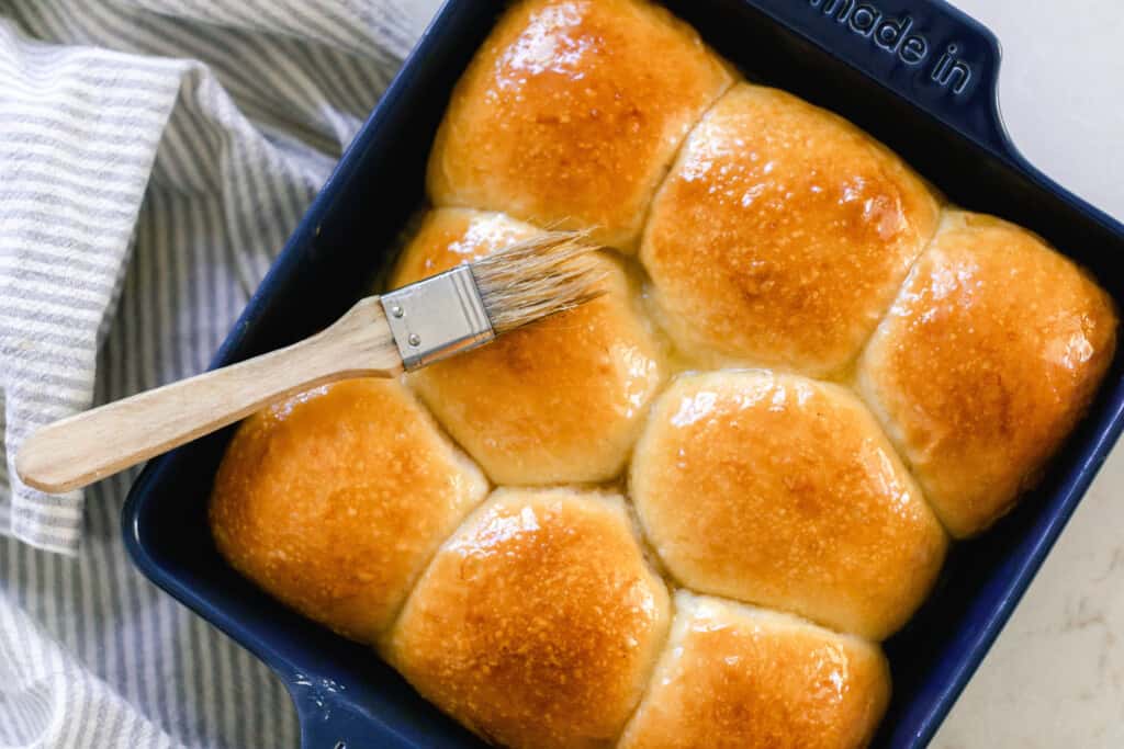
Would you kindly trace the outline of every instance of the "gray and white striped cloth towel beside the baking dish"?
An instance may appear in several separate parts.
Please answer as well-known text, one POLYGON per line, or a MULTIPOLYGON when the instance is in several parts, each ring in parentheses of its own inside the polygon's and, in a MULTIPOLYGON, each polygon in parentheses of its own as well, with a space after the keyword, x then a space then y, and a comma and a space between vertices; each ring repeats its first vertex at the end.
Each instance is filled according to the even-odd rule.
POLYGON ((35 427, 199 372, 437 0, 0 0, 0 747, 292 747, 35 427))

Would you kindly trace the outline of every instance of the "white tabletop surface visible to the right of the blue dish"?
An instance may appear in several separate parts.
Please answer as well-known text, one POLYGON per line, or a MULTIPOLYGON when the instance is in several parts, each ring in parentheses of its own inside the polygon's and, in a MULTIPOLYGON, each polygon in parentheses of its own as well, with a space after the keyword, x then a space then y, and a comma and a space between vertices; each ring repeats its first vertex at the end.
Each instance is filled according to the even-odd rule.
MULTIPOLYGON (((1003 42, 1000 100, 1017 146, 1124 218, 1124 3, 955 4, 1003 42)), ((932 743, 976 747, 1124 747, 1124 442, 932 743)))

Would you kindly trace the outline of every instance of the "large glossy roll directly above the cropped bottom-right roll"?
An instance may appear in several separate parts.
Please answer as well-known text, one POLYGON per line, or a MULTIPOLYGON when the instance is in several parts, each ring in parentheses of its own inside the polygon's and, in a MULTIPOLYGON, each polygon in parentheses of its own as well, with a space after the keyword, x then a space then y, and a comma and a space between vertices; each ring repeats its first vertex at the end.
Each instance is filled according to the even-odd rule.
POLYGON ((677 381, 652 409, 631 488, 688 587, 871 639, 924 600, 946 546, 865 407, 795 375, 677 381))

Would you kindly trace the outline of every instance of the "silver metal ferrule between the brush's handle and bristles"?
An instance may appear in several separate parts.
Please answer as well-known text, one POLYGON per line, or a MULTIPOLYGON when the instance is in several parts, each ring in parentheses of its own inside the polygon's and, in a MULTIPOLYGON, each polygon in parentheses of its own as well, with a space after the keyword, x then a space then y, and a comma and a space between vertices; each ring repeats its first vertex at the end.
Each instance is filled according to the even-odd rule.
POLYGON ((383 294, 382 309, 407 372, 496 337, 468 265, 383 294))

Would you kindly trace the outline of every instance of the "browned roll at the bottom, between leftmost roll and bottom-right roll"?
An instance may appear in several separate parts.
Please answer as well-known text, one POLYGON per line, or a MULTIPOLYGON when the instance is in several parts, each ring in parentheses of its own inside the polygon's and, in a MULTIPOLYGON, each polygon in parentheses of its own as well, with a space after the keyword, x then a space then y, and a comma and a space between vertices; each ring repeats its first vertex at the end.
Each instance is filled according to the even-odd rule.
POLYGON ((647 684, 668 608, 620 497, 500 490, 442 547, 386 651, 491 742, 607 747, 647 684))

